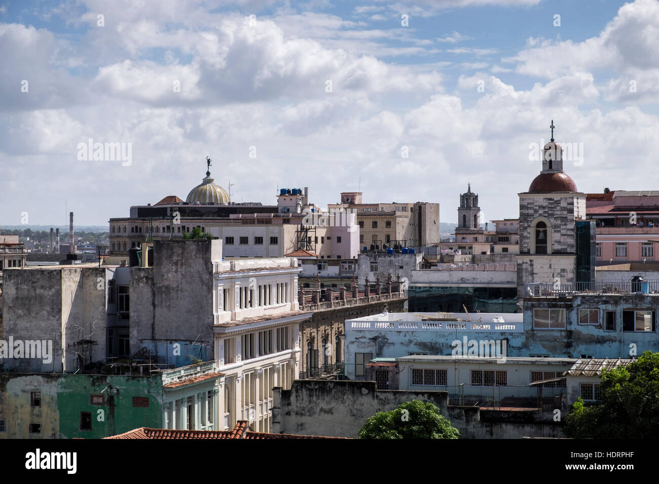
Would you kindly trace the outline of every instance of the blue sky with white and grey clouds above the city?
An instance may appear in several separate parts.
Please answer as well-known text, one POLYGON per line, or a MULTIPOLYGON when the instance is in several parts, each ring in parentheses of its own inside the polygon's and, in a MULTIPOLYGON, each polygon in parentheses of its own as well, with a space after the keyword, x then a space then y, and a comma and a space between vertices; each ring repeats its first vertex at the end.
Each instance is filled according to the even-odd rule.
POLYGON ((235 202, 360 188, 455 222, 471 182, 517 217, 552 119, 580 191, 657 189, 657 45, 655 0, 0 1, 0 223, 185 199, 207 155, 235 202))

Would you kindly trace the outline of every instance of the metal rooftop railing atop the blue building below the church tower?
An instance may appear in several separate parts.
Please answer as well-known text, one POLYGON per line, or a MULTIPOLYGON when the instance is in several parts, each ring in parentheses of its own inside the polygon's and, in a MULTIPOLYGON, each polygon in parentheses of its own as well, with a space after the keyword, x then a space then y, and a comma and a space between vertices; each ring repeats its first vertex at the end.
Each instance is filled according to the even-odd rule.
POLYGON ((632 282, 623 279, 604 279, 594 282, 575 282, 574 284, 552 284, 551 282, 532 282, 525 284, 526 298, 567 298, 575 294, 659 294, 659 279, 632 282))

